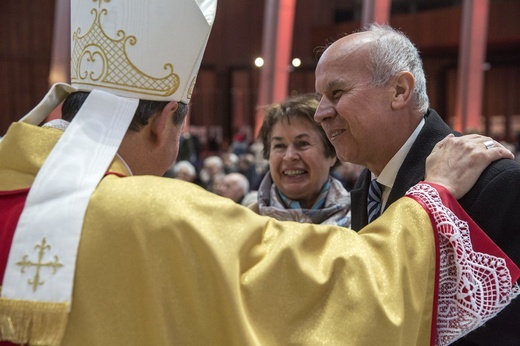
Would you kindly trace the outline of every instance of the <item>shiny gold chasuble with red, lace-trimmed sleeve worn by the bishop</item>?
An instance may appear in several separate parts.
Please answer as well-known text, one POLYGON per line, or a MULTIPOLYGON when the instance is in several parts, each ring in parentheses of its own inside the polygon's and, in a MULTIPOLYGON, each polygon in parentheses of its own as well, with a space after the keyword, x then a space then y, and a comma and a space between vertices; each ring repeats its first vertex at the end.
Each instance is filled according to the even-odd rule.
MULTIPOLYGON (((0 199, 31 186, 59 136, 10 127, 0 143, 0 199)), ((446 344, 518 293, 511 291, 518 268, 464 222, 469 218, 449 204, 455 201, 444 202, 449 196, 439 187, 418 185, 413 198, 356 233, 279 222, 189 183, 126 175, 116 159, 91 197, 57 344, 446 344), (486 252, 472 252, 475 246, 486 252), (486 281, 493 281, 489 272, 498 283, 486 281), (450 291, 466 279, 483 280, 477 286, 492 295, 450 291)), ((0 220, 0 234, 6 223, 0 220)), ((59 256, 48 245, 49 258, 59 256)), ((35 272, 26 269, 27 284, 35 272)), ((51 279, 52 270, 41 268, 40 280, 51 279)), ((0 339, 44 344, 45 336, 35 340, 30 327, 12 323, 9 311, 21 303, 1 298, 0 339)), ((29 315, 26 324, 36 325, 29 315)))

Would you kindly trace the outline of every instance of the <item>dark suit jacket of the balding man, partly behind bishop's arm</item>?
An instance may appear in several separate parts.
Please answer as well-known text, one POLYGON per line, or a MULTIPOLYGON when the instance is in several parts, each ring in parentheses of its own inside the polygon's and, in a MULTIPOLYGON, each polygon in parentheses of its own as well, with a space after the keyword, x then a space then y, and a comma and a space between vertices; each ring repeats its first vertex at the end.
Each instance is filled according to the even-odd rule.
MULTIPOLYGON (((426 157, 437 142, 450 133, 458 135, 433 110, 406 156, 390 192, 386 207, 424 179, 426 157)), ((352 228, 367 224, 367 194, 370 172, 365 169, 350 191, 352 228)), ((459 203, 476 223, 520 265, 520 165, 514 160, 498 160, 487 167, 473 188, 459 203)), ((453 345, 520 345, 520 299, 497 317, 453 345)))

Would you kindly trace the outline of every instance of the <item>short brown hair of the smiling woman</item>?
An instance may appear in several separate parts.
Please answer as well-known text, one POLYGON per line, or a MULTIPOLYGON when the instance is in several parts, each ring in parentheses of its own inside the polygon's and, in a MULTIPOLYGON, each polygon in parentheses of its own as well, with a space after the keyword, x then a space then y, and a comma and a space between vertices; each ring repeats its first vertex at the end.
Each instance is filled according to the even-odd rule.
MULTIPOLYGON (((336 157, 336 150, 327 138, 325 131, 323 131, 323 128, 318 122, 314 121, 314 113, 316 112, 316 108, 318 108, 318 104, 319 101, 316 94, 305 94, 289 97, 280 103, 273 103, 265 108, 264 121, 258 133, 258 137, 262 140, 262 144, 264 145, 262 153, 265 159, 269 159, 271 152, 271 136, 274 125, 282 119, 287 119, 290 123, 291 117, 307 119, 312 123, 316 128, 316 132, 320 135, 325 148, 325 152, 323 153, 325 157, 336 157)), ((336 163, 338 162, 339 160, 336 160, 336 163)))

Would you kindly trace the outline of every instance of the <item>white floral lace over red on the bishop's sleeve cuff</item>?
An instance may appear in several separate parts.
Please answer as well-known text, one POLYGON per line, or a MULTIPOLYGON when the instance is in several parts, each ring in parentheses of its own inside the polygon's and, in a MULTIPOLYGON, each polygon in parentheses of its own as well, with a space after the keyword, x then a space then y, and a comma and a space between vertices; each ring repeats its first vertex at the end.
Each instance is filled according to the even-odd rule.
POLYGON ((439 236, 437 345, 448 345, 498 314, 519 295, 503 258, 476 252, 466 221, 442 204, 428 184, 412 187, 431 211, 439 236))

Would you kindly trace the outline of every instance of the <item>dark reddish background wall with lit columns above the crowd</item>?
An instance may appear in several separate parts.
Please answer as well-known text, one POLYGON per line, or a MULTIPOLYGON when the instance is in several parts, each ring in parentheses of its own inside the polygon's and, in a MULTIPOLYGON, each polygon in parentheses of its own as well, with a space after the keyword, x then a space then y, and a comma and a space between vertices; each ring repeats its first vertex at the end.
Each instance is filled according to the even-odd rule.
MULTIPOLYGON (((66 56, 70 47, 59 44, 70 42, 63 14, 67 3, 0 2, 0 136, 41 100, 49 85, 67 82, 68 61, 60 60, 60 51, 66 56)), ((446 122, 458 124, 461 132, 515 142, 520 133, 519 13, 518 0, 219 0, 186 131, 203 145, 212 140, 223 148, 237 131, 254 141, 258 109, 276 97, 314 92, 319 47, 358 30, 372 15, 417 45, 431 106, 446 122), (383 13, 374 8, 385 5, 383 13), (472 28, 479 32, 472 34, 472 28), (283 30, 290 34, 284 42, 266 38, 283 30), (484 38, 480 53, 472 51, 479 38, 484 38), (265 58, 266 50, 277 54, 283 49, 288 59, 282 84, 267 76, 271 84, 261 85, 270 61, 264 59, 263 66, 255 61, 265 58), (480 71, 464 75, 459 67, 470 62, 480 71), (262 96, 273 83, 281 91, 262 96), (466 115, 469 123, 457 118, 466 115)))

